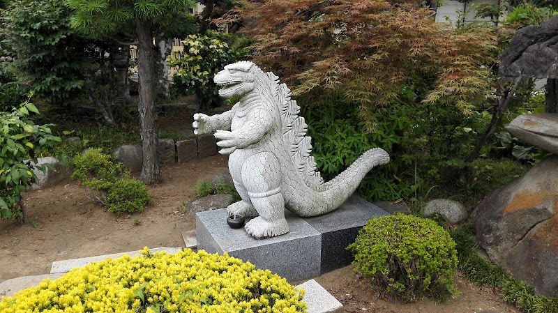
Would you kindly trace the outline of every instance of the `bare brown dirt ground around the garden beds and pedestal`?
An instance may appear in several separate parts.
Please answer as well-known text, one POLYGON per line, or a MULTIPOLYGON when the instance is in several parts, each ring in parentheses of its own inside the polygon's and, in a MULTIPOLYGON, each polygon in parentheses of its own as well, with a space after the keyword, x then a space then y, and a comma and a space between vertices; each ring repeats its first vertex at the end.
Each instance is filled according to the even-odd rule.
MULTIPOLYGON (((188 118, 175 118, 181 125, 191 123, 188 118)), ((50 273, 53 261, 135 251, 144 246, 185 247, 181 234, 195 229, 195 218, 184 212, 183 203, 195 199, 194 185, 200 178, 210 179, 226 170, 227 158, 221 155, 165 167, 163 182, 149 188, 154 204, 142 213, 119 217, 103 211, 75 181, 28 192, 24 194, 27 222, 0 221, 0 282, 50 273)), ((420 300, 411 304, 382 298, 352 266, 316 280, 345 305, 346 312, 520 312, 504 303, 496 291, 476 287, 461 277, 457 278, 460 296, 450 303, 420 300)))

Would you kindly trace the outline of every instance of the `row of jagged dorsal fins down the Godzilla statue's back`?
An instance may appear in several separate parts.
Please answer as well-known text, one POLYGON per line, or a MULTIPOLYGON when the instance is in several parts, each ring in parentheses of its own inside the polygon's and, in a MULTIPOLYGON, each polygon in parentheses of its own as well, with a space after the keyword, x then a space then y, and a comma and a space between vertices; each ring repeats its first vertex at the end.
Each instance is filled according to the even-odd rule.
POLYGON ((312 139, 306 136, 308 125, 306 125, 304 118, 299 116, 301 107, 296 104, 296 100, 291 99, 291 91, 286 84, 280 84, 278 96, 283 125, 283 139, 285 144, 290 145, 288 152, 294 165, 307 183, 315 186, 322 185, 324 179, 319 171, 316 171, 316 161, 310 155, 310 152, 312 152, 310 141, 312 139))

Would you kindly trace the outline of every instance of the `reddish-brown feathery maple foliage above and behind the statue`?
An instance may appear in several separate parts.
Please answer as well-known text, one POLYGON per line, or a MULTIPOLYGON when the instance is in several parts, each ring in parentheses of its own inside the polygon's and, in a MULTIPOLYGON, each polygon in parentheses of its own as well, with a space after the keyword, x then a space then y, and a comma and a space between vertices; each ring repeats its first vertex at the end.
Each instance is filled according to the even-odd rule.
POLYGON ((432 11, 408 1, 243 1, 222 21, 250 21, 254 61, 276 72, 309 100, 338 98, 359 105, 373 127, 402 84, 433 77, 428 103, 470 114, 488 97, 496 38, 493 29, 454 31, 432 11))

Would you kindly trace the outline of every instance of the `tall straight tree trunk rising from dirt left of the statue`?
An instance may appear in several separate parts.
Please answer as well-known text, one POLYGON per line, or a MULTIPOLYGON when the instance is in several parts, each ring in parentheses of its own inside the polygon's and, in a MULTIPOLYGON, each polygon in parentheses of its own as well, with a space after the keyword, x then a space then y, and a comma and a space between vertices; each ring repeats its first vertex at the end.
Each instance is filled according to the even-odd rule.
POLYGON ((155 49, 151 23, 135 17, 137 33, 137 72, 140 88, 138 110, 142 126, 143 165, 141 179, 146 185, 160 180, 158 132, 155 113, 155 49))

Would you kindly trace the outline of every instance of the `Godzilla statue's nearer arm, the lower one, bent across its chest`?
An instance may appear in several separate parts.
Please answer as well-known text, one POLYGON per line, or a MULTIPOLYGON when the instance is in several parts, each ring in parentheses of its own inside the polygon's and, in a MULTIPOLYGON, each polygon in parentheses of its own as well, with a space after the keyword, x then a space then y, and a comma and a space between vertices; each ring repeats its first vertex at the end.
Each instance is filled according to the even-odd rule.
POLYGON ((229 154, 237 148, 246 148, 262 140, 273 127, 273 116, 266 109, 254 109, 244 125, 232 132, 217 130, 215 137, 221 154, 229 154))

